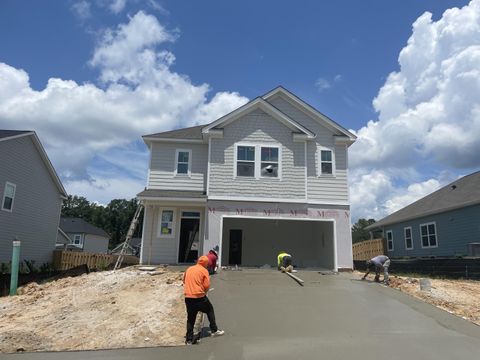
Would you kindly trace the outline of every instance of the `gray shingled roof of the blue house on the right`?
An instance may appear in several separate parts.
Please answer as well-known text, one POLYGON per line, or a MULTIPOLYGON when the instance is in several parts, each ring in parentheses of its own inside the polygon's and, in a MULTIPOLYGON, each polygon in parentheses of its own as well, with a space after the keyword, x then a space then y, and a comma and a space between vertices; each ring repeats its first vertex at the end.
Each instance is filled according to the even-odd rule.
POLYGON ((367 226, 367 230, 480 204, 480 171, 464 176, 367 226))

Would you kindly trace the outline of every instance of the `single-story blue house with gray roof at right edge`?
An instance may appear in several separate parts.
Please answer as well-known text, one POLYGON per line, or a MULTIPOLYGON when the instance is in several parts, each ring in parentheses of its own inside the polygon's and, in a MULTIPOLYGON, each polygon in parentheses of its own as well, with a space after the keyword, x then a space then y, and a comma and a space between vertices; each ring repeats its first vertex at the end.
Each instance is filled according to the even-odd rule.
POLYGON ((383 230, 390 257, 474 255, 480 246, 480 172, 458 179, 366 229, 383 230))

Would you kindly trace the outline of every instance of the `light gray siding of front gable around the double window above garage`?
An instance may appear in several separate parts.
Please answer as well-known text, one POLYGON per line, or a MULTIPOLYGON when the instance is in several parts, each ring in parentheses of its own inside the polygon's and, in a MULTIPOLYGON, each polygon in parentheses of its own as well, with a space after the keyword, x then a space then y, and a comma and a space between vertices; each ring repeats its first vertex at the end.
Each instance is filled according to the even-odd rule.
POLYGON ((211 140, 209 196, 305 199, 305 145, 293 142, 292 130, 261 110, 224 128, 211 140), (235 144, 281 145, 281 178, 236 177, 235 144))

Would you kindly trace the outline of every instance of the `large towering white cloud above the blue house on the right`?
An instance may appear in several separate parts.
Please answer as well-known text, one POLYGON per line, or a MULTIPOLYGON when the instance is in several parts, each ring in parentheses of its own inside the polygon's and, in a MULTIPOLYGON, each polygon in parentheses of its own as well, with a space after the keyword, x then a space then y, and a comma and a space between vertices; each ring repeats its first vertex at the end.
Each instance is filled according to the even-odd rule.
POLYGON ((431 193, 446 184, 442 169, 480 167, 480 0, 438 21, 420 16, 398 62, 373 100, 378 119, 350 148, 357 216, 378 219, 431 193))

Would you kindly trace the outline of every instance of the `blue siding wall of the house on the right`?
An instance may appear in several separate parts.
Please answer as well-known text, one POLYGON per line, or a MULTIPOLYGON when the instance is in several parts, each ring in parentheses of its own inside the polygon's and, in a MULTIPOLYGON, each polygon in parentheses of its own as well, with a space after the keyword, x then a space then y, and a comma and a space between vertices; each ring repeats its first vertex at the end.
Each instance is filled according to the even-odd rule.
POLYGON ((480 205, 387 225, 384 227, 385 233, 388 230, 393 233, 394 250, 387 252, 391 257, 467 255, 467 244, 480 242, 480 205), (436 248, 422 248, 420 224, 429 222, 436 223, 436 248), (413 250, 405 249, 405 227, 412 228, 413 250))

